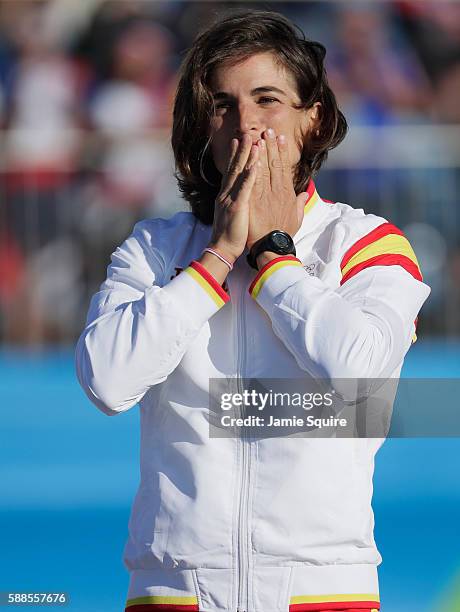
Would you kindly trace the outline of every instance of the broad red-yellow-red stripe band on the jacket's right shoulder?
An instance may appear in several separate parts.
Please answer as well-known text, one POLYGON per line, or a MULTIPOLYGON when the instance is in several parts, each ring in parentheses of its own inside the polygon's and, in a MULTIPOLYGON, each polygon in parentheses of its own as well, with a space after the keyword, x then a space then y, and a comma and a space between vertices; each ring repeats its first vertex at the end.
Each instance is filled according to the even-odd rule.
POLYGON ((379 225, 348 249, 340 264, 340 284, 371 266, 401 266, 417 280, 423 280, 409 241, 392 223, 379 225))

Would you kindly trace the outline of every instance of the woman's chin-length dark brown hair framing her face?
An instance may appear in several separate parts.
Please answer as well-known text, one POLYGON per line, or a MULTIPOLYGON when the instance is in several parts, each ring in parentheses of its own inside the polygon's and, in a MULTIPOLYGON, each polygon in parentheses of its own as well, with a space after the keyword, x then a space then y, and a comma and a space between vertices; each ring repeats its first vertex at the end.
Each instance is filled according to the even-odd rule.
POLYGON ((173 111, 172 147, 179 189, 200 221, 211 224, 221 174, 214 165, 208 129, 214 112, 210 84, 215 69, 255 53, 273 52, 294 76, 299 108, 321 103, 319 122, 304 140, 294 174, 296 193, 306 190, 327 157, 345 137, 347 122, 329 87, 326 49, 279 13, 232 12, 198 35, 180 70, 173 111), (318 132, 318 133, 317 133, 318 132))

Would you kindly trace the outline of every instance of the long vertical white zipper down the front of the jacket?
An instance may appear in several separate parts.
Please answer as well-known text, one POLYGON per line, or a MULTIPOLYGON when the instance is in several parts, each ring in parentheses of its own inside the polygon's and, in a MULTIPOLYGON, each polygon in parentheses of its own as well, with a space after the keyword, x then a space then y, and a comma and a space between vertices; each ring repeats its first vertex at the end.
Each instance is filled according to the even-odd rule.
MULTIPOLYGON (((244 380, 246 367, 246 339, 245 339, 245 308, 244 298, 246 287, 243 283, 240 295, 240 316, 238 317, 238 390, 243 392, 242 380, 244 380)), ((241 415, 244 417, 244 407, 241 406, 241 415)), ((248 553, 248 497, 249 497, 249 463, 250 447, 244 427, 241 429, 239 440, 241 449, 241 489, 238 513, 238 602, 237 611, 248 610, 248 578, 249 578, 249 553, 248 553)))

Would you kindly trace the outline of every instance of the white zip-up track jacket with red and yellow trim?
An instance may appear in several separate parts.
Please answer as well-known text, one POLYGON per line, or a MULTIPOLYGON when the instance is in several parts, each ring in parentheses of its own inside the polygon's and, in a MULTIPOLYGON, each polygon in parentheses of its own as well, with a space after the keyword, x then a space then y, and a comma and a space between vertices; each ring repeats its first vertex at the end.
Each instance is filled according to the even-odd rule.
POLYGON ((76 352, 104 413, 139 403, 141 480, 126 609, 379 609, 371 509, 382 439, 209 436, 209 379, 399 375, 429 295, 403 233, 310 182, 297 258, 224 290, 192 213, 138 223, 112 255, 76 352))

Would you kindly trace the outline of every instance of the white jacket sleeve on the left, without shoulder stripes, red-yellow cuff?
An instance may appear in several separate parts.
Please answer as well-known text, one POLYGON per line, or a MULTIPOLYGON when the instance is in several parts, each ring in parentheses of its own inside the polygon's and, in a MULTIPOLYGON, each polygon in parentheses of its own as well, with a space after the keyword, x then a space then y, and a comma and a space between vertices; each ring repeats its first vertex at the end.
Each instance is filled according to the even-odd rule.
POLYGON ((108 415, 131 408, 164 381, 203 324, 229 300, 197 262, 161 286, 165 262, 146 223, 137 224, 112 255, 76 348, 79 382, 108 415))

